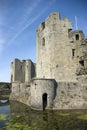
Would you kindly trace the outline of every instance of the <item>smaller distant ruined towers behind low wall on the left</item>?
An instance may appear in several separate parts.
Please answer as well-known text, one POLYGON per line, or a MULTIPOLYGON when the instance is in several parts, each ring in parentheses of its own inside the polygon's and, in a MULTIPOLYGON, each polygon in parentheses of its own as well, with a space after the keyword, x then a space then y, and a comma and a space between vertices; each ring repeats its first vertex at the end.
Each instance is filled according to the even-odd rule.
POLYGON ((11 63, 11 82, 30 82, 35 77, 35 64, 31 60, 15 59, 11 63))

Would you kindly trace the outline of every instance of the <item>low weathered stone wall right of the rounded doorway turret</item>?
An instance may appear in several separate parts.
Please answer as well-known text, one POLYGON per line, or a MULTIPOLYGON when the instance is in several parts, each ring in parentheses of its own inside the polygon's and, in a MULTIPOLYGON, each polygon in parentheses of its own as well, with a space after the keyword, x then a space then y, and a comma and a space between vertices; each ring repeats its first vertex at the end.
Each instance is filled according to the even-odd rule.
POLYGON ((54 101, 54 109, 81 109, 87 107, 87 95, 85 89, 76 82, 59 82, 57 96, 54 101), (85 93, 85 96, 84 96, 85 93), (86 100, 85 100, 85 98, 86 100))

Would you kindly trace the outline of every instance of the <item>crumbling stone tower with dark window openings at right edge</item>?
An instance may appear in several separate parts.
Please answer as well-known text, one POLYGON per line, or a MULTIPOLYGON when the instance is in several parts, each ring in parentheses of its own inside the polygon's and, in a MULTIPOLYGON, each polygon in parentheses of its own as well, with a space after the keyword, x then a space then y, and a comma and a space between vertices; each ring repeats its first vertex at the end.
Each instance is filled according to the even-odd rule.
POLYGON ((73 59, 76 59, 77 79, 79 75, 87 74, 87 40, 81 30, 69 33, 71 47, 73 50, 73 59))

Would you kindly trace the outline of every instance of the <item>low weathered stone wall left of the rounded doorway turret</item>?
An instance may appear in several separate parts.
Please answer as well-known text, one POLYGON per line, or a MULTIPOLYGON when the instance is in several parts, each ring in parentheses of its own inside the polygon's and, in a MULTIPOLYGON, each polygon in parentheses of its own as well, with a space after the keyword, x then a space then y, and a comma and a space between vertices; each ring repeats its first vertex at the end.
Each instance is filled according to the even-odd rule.
POLYGON ((20 82, 12 83, 10 100, 16 100, 30 106, 30 85, 20 82))

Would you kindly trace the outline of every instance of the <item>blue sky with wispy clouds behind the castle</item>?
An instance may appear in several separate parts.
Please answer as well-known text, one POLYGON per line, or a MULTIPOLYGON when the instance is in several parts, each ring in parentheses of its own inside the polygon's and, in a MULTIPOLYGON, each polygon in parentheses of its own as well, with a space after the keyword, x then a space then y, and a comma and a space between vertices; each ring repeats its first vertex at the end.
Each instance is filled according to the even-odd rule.
POLYGON ((87 0, 0 0, 0 82, 10 81, 15 59, 36 62, 36 29, 50 13, 66 16, 87 37, 87 0))

